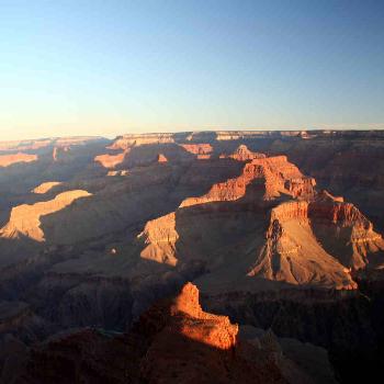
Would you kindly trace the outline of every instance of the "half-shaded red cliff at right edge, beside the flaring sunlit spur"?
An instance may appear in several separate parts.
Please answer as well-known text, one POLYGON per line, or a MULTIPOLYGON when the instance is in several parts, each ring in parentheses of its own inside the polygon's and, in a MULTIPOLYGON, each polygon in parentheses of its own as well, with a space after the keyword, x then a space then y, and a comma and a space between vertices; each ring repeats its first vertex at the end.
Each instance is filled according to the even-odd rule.
POLYGON ((384 261, 384 239, 353 204, 323 191, 309 203, 308 216, 324 247, 345 267, 358 270, 370 259, 384 261))

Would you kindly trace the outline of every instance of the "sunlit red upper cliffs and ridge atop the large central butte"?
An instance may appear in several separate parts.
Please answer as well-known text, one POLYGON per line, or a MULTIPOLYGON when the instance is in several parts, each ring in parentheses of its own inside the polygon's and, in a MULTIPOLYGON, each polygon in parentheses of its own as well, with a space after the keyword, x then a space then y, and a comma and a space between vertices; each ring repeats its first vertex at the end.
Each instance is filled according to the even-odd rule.
POLYGON ((256 182, 257 179, 259 179, 263 190, 261 200, 264 201, 273 200, 281 193, 307 199, 314 195, 315 181, 305 178, 296 166, 287 161, 286 156, 275 156, 252 159, 245 165, 242 173, 238 178, 214 184, 205 195, 189 197, 181 203, 180 207, 239 200, 246 195, 247 187, 256 182), (300 180, 302 181, 300 182, 300 180))

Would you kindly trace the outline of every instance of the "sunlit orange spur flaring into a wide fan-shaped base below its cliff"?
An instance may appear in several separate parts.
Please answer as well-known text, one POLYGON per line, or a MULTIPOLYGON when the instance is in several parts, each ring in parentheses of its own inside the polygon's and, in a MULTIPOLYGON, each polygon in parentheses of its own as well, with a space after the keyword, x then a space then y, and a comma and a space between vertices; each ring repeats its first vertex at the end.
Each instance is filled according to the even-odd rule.
POLYGON ((357 289, 348 269, 317 242, 308 222, 307 202, 287 202, 272 208, 266 244, 248 274, 304 286, 357 289))

